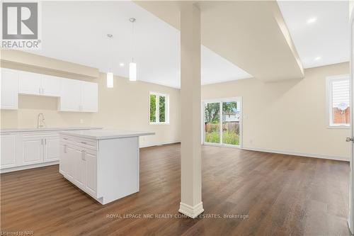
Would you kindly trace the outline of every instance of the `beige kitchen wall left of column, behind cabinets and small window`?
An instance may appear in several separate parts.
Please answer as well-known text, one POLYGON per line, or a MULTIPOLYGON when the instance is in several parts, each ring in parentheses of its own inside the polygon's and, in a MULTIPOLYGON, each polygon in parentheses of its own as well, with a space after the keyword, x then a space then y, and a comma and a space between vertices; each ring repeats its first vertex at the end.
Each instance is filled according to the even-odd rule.
MULTIPOLYGON (((72 79, 80 78, 10 62, 2 62, 1 66, 72 79)), ((20 95, 17 111, 1 110, 1 128, 35 128, 38 113, 43 113, 47 127, 98 126, 154 131, 156 135, 140 138, 141 146, 181 140, 179 89, 145 82, 129 82, 122 77, 115 77, 114 88, 108 89, 105 86, 105 74, 100 74, 99 79, 86 81, 98 83, 98 113, 59 112, 55 98, 20 95), (169 94, 169 125, 149 125, 149 91, 169 94)))

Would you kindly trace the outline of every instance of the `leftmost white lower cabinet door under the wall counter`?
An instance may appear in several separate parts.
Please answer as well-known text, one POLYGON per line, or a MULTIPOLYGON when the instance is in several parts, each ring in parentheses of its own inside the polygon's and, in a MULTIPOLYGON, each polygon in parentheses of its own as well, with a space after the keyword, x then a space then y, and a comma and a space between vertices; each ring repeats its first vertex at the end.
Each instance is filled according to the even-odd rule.
POLYGON ((16 166, 17 135, 1 133, 1 163, 0 168, 16 166))

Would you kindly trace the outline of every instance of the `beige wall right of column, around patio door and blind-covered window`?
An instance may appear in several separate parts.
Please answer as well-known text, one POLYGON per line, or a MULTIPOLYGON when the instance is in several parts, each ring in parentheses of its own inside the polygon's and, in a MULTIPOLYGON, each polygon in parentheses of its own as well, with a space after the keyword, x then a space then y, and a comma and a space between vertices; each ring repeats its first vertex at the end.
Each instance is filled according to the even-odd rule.
POLYGON ((202 86, 202 99, 242 96, 244 147, 348 159, 350 130, 327 128, 326 77, 349 74, 349 63, 304 74, 284 82, 243 79, 202 86))

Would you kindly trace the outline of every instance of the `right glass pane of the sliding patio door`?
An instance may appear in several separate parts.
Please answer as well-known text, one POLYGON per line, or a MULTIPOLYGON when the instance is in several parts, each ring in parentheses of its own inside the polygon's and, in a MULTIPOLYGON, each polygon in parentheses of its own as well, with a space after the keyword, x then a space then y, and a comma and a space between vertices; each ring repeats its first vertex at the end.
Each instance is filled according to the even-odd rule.
POLYGON ((240 110, 236 101, 222 103, 222 143, 239 145, 240 110))

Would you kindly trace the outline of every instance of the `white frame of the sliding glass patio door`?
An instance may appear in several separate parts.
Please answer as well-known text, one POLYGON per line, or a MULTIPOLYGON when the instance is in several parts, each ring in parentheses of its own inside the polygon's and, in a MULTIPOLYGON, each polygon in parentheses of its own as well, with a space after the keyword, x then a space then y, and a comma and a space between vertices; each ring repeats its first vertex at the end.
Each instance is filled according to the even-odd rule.
POLYGON ((202 100, 202 123, 201 123, 201 137, 202 137, 202 145, 208 145, 208 146, 217 146, 217 147, 232 147, 232 148, 239 148, 242 149, 242 140, 243 140, 243 104, 242 104, 242 96, 234 96, 231 98, 221 98, 221 99, 204 99, 202 100), (229 101, 236 101, 237 105, 240 106, 240 118, 239 118, 239 145, 229 145, 229 144, 224 144, 222 143, 222 103, 223 102, 229 102, 229 101), (205 116, 204 116, 204 106, 205 103, 219 103, 220 108, 219 108, 219 116, 220 116, 220 123, 219 123, 219 137, 220 137, 220 143, 213 143, 213 142, 205 142, 205 133, 204 133, 204 124, 205 124, 205 116))

